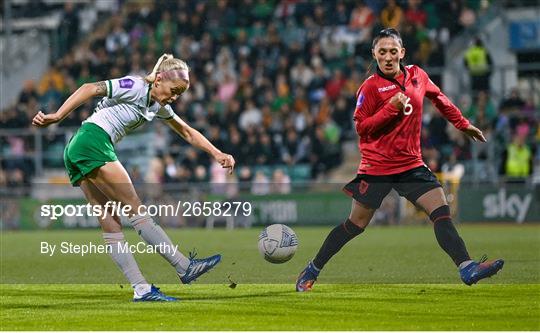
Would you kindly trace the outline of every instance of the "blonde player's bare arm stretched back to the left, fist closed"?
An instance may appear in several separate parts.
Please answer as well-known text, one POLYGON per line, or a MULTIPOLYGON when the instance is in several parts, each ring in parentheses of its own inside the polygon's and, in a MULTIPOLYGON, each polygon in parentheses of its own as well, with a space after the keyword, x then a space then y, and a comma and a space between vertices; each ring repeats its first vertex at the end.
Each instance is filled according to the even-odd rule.
POLYGON ((51 124, 62 121, 73 110, 78 108, 81 104, 93 97, 106 96, 107 84, 105 81, 85 83, 79 89, 77 89, 69 98, 62 104, 60 109, 55 113, 45 114, 39 111, 32 119, 32 125, 37 127, 47 127, 51 124))

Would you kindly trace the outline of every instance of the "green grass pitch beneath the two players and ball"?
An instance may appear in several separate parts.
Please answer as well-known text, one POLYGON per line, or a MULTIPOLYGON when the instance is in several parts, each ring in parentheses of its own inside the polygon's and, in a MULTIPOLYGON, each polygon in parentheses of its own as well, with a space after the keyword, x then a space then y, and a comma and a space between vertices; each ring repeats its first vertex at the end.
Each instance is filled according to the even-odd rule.
MULTIPOLYGON (((472 287, 429 226, 370 227, 326 267, 310 293, 296 276, 331 227, 294 227, 288 263, 257 252, 260 228, 169 230, 183 252, 223 262, 190 286, 157 254, 136 255, 150 282, 181 302, 137 304, 105 254, 40 254, 40 242, 101 244, 98 230, 2 232, 2 330, 540 330, 540 226, 461 225, 473 257, 506 260, 472 287), (228 277, 237 282, 229 287, 228 277)), ((128 241, 139 241, 126 232, 128 241)))

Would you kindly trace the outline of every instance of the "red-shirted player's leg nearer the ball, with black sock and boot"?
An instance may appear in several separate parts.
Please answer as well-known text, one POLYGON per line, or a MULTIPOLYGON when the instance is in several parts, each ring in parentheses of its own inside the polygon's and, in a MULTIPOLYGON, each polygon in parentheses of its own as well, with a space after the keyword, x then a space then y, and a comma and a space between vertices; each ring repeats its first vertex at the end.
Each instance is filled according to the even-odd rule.
POLYGON ((375 209, 353 199, 349 218, 330 231, 315 259, 298 276, 296 291, 311 290, 324 265, 351 239, 364 232, 374 213, 375 209))

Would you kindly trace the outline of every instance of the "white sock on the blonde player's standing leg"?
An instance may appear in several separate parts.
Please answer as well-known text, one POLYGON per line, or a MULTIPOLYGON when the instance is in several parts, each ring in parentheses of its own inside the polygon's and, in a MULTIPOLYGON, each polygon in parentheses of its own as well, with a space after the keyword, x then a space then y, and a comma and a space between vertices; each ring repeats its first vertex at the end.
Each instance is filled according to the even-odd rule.
POLYGON ((124 234, 121 232, 104 232, 103 239, 109 247, 109 254, 118 268, 124 273, 132 286, 148 284, 133 257, 133 253, 123 251, 121 245, 125 244, 124 234))

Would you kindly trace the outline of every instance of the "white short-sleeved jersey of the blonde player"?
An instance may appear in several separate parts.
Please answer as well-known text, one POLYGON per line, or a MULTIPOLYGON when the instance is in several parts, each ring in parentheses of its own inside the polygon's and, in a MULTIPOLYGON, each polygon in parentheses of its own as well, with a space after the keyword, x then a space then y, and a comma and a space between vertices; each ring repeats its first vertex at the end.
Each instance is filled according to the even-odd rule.
POLYGON ((106 84, 107 97, 103 97, 83 123, 103 128, 113 143, 154 117, 171 119, 174 116, 169 105, 161 106, 150 99, 151 87, 141 77, 125 76, 107 80, 106 84))

